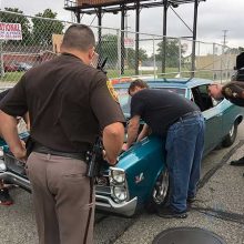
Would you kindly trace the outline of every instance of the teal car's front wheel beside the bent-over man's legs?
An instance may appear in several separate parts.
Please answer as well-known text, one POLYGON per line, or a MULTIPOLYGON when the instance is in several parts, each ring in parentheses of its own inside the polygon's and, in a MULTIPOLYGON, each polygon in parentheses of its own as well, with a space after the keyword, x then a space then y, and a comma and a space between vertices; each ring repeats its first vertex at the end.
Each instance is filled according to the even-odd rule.
POLYGON ((169 189, 170 177, 165 169, 156 179, 150 201, 145 204, 145 210, 152 213, 155 212, 159 206, 163 205, 167 201, 169 189))

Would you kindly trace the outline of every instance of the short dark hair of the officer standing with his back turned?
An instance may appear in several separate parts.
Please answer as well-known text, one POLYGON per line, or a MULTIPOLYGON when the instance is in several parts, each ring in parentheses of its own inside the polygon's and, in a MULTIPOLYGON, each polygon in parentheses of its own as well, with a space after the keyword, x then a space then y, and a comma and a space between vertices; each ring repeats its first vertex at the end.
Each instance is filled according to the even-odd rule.
POLYGON ((95 47, 94 33, 85 24, 72 24, 64 33, 61 47, 88 51, 90 48, 95 47))

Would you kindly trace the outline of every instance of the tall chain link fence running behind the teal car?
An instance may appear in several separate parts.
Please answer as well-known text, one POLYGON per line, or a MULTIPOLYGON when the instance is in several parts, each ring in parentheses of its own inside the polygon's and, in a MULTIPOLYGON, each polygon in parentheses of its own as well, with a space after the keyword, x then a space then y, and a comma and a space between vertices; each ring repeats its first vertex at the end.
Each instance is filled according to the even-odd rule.
MULTIPOLYGON (((26 71, 59 54, 62 34, 71 22, 0 11, 0 84, 11 87, 26 71), (2 38, 2 23, 20 23, 21 40, 2 38)), ((228 81, 237 49, 192 40, 91 27, 100 62, 112 80, 123 78, 194 77, 228 81), (138 50, 138 51, 136 51, 138 50), (194 62, 194 63, 193 63, 194 62), (193 69, 194 68, 194 69, 193 69)), ((10 30, 11 31, 11 30, 10 30)))

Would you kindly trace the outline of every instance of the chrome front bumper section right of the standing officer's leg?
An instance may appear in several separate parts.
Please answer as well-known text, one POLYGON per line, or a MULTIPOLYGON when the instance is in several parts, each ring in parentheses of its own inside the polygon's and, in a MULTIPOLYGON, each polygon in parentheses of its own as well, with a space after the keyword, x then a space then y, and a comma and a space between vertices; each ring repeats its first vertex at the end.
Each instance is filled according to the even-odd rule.
POLYGON ((135 213, 138 197, 123 203, 115 203, 110 196, 95 195, 95 207, 101 211, 132 216, 135 213))

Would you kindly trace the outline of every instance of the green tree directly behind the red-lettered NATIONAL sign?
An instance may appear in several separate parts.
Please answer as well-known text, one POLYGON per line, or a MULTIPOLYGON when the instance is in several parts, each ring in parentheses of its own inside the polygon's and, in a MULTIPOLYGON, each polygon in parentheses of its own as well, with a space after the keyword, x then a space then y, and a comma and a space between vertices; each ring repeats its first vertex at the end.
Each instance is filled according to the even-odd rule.
POLYGON ((16 12, 16 13, 21 13, 21 14, 16 14, 16 13, 10 13, 10 12, 0 12, 0 20, 1 22, 6 23, 20 23, 21 24, 21 30, 22 30, 22 40, 18 41, 12 41, 9 40, 8 44, 13 44, 13 45, 28 45, 31 42, 31 33, 30 33, 30 22, 27 17, 22 16, 22 11, 19 10, 18 8, 6 8, 7 11, 10 12, 16 12))

